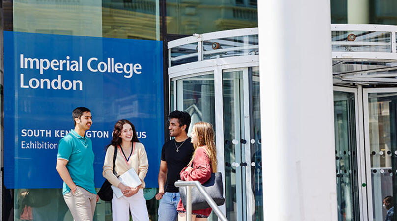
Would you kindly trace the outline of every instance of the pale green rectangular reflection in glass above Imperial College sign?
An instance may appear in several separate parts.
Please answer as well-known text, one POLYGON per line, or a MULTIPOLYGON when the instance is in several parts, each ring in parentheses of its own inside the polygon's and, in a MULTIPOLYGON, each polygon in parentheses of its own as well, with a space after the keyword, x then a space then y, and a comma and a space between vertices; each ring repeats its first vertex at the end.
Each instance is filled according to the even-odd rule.
POLYGON ((102 37, 102 2, 13 1, 14 31, 102 37))

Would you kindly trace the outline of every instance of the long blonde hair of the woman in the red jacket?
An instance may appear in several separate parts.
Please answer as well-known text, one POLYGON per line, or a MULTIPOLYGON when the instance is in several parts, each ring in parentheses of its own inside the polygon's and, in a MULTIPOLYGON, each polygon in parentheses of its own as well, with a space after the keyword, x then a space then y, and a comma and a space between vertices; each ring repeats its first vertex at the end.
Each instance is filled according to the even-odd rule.
POLYGON ((196 151, 201 146, 207 146, 205 151, 211 161, 212 172, 217 171, 218 161, 216 159, 216 146, 215 146, 215 133, 212 125, 207 122, 197 122, 193 125, 192 130, 196 133, 199 138, 199 142, 194 144, 195 152, 193 153, 192 159, 188 166, 190 166, 195 157, 196 151))

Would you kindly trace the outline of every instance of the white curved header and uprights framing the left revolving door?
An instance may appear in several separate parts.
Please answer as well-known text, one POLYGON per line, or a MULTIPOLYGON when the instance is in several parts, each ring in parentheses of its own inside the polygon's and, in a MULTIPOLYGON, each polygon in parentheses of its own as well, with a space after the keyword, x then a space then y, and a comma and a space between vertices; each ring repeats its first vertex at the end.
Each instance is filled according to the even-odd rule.
MULTIPOLYGON (((256 57, 255 57, 256 58, 256 57)), ((251 58, 246 58, 244 56, 242 57, 232 57, 232 58, 222 58, 222 59, 213 59, 213 60, 206 60, 206 61, 201 61, 201 62, 195 62, 192 63, 189 67, 189 69, 185 70, 174 70, 174 73, 169 74, 169 86, 170 82, 173 82, 173 103, 174 103, 174 109, 178 107, 178 100, 181 99, 181 97, 178 97, 178 91, 177 91, 177 80, 180 79, 185 79, 189 77, 194 77, 194 76, 201 76, 201 75, 206 75, 206 74, 214 74, 214 86, 215 86, 215 124, 218 125, 216 126, 216 146, 217 146, 217 159, 218 159, 218 171, 225 174, 225 153, 224 153, 224 121, 223 121, 223 72, 224 71, 231 71, 231 70, 243 70, 243 82, 244 82, 244 91, 247 91, 244 94, 244 96, 248 98, 248 69, 253 68, 253 70, 259 70, 258 69, 259 62, 258 59, 251 59, 251 58), (225 61, 225 62, 220 62, 220 61, 225 61), (227 62, 226 62, 227 61, 227 62), (217 104, 222 104, 222 105, 217 105, 217 104)), ((171 91, 169 91, 169 102, 171 99, 171 91)), ((244 110, 244 116, 250 116, 249 115, 249 100, 245 99, 246 103, 244 103, 244 109, 248 108, 248 112, 244 110), (247 114, 246 114, 247 113, 247 114)), ((170 107, 170 111, 171 107, 170 107)), ((250 118, 248 117, 247 119, 244 119, 244 124, 246 128, 250 127, 250 118), (247 124, 248 123, 248 124, 247 124)), ((245 136, 250 138, 250 131, 246 130, 244 132, 245 136)), ((249 143, 249 142, 247 142, 249 143)), ((246 152, 246 162, 251 162, 251 159, 247 161, 247 157, 250 158, 251 155, 251 148, 249 145, 245 147, 246 150, 249 150, 246 152)), ((246 168, 246 177, 251 176, 251 169, 248 166, 248 169, 246 168)), ((225 185, 225 177, 223 176, 223 182, 225 185)), ((248 194, 251 189, 251 180, 249 181, 249 185, 246 184, 248 188, 246 188, 245 195, 246 200, 245 202, 252 202, 254 200, 253 196, 248 194), (248 201, 249 200, 249 201, 248 201)), ((225 190, 225 186, 224 186, 225 190)), ((252 193, 252 192, 251 192, 252 193)), ((225 192, 224 192, 225 196, 225 192)), ((250 203, 244 203, 246 205, 245 209, 245 216, 249 216, 254 212, 254 205, 250 203)), ((221 211, 225 214, 226 213, 226 206, 225 204, 220 206, 221 211)))

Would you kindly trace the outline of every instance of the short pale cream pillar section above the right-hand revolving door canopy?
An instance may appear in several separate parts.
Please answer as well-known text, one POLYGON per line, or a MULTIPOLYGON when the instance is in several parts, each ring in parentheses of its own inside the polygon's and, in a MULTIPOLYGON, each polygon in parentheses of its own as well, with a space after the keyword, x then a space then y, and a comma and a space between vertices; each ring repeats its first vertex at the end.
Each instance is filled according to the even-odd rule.
POLYGON ((369 24, 369 0, 347 0, 347 23, 369 24))

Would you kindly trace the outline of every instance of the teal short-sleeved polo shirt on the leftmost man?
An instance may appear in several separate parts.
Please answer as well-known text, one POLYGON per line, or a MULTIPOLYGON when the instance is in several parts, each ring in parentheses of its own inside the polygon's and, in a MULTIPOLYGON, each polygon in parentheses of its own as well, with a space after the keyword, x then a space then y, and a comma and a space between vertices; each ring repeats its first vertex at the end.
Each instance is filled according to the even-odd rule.
MULTIPOLYGON (((71 130, 69 134, 59 140, 57 159, 67 160, 66 165, 73 182, 96 194, 94 184, 94 152, 92 142, 86 136, 80 136, 71 130)), ((63 195, 70 192, 70 188, 63 182, 63 195)))

